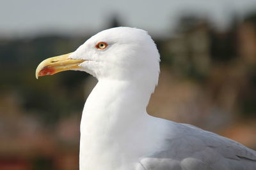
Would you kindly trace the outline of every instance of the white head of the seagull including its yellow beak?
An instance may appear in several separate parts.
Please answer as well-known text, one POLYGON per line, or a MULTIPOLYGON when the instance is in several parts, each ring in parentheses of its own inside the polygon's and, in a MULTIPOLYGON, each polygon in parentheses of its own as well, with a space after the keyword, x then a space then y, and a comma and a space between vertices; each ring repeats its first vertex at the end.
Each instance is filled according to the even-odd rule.
POLYGON ((85 71, 98 80, 151 80, 155 86, 159 52, 146 31, 115 27, 95 34, 75 52, 45 59, 36 68, 36 78, 66 70, 85 71))

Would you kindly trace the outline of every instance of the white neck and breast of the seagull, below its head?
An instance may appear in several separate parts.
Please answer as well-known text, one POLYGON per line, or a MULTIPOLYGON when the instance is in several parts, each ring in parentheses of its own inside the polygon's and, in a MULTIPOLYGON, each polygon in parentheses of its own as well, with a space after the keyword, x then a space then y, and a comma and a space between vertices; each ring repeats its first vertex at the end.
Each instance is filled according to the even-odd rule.
POLYGON ((146 111, 149 98, 150 92, 141 85, 99 80, 84 104, 81 169, 118 169, 124 162, 131 165, 127 162, 134 162, 141 155, 152 152, 152 148, 158 148, 159 143, 155 140, 160 134, 146 111), (88 167, 99 164, 98 160, 99 167, 88 167), (115 164, 107 168, 109 162, 115 164))

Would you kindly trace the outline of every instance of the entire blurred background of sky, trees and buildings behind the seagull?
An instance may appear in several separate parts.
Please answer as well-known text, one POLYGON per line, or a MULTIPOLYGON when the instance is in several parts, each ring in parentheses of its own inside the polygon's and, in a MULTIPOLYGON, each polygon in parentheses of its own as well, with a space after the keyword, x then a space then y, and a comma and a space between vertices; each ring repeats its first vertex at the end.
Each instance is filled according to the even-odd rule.
POLYGON ((97 80, 38 64, 117 26, 161 54, 148 113, 256 149, 256 1, 0 1, 0 169, 78 169, 83 104, 97 80))

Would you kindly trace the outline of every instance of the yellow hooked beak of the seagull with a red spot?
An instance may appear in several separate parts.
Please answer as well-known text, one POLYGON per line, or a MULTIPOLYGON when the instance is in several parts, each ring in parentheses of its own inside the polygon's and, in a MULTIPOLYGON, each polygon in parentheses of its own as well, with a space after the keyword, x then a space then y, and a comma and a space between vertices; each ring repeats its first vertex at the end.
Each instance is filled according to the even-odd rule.
POLYGON ((68 59, 71 53, 51 57, 43 60, 36 68, 36 79, 38 76, 52 75, 70 69, 79 69, 78 65, 85 60, 68 59))

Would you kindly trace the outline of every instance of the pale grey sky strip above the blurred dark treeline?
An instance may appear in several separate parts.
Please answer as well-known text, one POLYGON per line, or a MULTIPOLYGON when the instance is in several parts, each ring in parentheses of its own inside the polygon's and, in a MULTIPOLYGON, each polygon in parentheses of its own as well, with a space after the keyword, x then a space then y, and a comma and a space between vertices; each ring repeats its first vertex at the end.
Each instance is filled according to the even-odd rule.
POLYGON ((208 17, 225 29, 238 17, 256 10, 256 0, 0 0, 0 37, 26 37, 45 33, 98 32, 116 15, 123 25, 165 36, 184 13, 208 17))

